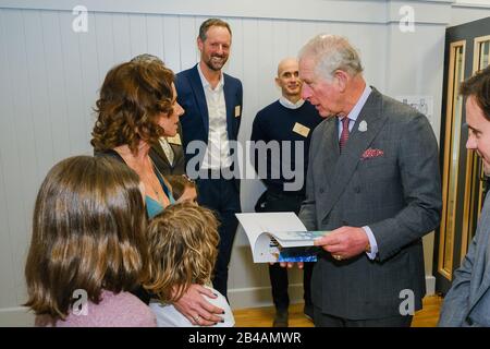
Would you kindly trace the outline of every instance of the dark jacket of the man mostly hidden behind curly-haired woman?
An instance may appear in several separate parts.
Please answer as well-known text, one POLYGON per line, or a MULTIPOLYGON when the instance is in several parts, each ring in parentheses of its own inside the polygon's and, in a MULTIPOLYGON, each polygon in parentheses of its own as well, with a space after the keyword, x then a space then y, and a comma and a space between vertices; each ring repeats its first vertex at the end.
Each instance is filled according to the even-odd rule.
MULTIPOLYGON (((182 141, 182 128, 179 124, 177 134, 182 141)), ((173 164, 170 165, 167 158, 166 152, 163 152, 160 143, 154 144, 150 148, 149 156, 155 166, 163 176, 170 174, 185 174, 185 159, 182 144, 175 144, 169 142, 170 147, 173 151, 173 164)))

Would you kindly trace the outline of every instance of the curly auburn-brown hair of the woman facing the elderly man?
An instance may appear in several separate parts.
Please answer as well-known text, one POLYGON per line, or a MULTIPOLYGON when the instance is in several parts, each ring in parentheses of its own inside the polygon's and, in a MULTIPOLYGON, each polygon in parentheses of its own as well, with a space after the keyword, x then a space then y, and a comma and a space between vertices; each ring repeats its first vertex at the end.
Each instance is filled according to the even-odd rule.
POLYGON ((139 141, 158 142, 160 113, 172 113, 173 72, 160 63, 126 62, 112 68, 96 103, 97 121, 90 144, 96 152, 127 145, 137 154, 139 141))

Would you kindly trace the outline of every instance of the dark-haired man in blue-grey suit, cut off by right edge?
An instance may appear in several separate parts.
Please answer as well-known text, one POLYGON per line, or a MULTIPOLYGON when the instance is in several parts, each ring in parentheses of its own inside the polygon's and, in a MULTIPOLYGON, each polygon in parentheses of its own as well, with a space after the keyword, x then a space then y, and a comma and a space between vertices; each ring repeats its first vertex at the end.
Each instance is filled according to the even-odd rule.
MULTIPOLYGON (((476 151, 490 176, 490 67, 461 86, 466 97, 466 147, 476 151)), ((439 326, 490 327, 490 198, 487 195, 468 253, 444 298, 439 326)))

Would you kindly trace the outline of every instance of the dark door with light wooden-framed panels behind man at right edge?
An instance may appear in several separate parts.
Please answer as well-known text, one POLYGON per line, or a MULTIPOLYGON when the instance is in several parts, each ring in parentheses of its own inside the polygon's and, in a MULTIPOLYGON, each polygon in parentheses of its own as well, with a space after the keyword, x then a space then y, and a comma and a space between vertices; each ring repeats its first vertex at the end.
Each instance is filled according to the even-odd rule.
POLYGON ((466 255, 487 191, 481 160, 466 149, 465 123, 460 85, 489 65, 490 17, 446 29, 444 94, 441 122, 442 217, 436 232, 436 290, 445 293, 454 270, 466 255))

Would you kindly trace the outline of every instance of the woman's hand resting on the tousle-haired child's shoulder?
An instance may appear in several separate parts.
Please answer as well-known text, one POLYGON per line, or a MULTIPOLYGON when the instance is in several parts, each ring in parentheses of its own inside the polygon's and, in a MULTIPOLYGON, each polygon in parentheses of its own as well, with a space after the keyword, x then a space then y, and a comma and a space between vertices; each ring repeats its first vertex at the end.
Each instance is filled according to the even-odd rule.
POLYGON ((222 321, 217 314, 223 314, 224 311, 221 308, 209 303, 203 294, 206 294, 209 298, 217 298, 210 289, 193 284, 187 292, 185 292, 177 302, 173 303, 173 305, 182 315, 187 317, 193 325, 216 325, 222 321))

